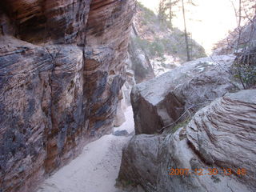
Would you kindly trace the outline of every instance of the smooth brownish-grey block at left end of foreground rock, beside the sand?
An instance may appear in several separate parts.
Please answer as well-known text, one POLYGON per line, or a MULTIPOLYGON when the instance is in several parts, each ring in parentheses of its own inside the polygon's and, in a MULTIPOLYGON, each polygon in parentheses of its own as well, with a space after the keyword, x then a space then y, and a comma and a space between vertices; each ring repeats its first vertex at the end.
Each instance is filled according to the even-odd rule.
POLYGON ((162 137, 141 134, 131 138, 122 150, 118 180, 130 184, 143 183, 146 191, 154 191, 158 177, 158 150, 162 137))

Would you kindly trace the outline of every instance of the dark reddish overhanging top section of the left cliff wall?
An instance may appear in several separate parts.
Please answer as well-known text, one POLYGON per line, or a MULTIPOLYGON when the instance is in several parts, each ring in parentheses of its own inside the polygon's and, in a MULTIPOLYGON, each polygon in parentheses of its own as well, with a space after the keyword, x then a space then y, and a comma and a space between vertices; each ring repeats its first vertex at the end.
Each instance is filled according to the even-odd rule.
MULTIPOLYGON (((2 22, 2 32, 12 32, 26 42, 83 44, 90 2, 91 0, 3 0, 1 12, 6 14, 7 20, 14 23, 14 26, 2 22)), ((98 3, 100 2, 102 1, 98 3)))

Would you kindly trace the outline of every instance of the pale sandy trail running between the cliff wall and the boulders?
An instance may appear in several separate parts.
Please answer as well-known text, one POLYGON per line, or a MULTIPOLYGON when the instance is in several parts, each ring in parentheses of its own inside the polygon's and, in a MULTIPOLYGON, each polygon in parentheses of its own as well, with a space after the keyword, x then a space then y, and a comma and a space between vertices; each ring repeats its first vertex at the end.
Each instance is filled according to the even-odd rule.
MULTIPOLYGON (((114 130, 134 131, 132 108, 126 110, 126 122, 114 130)), ((122 158, 122 146, 130 137, 105 135, 88 144, 70 164, 46 179, 38 192, 118 192, 114 187, 122 158)))

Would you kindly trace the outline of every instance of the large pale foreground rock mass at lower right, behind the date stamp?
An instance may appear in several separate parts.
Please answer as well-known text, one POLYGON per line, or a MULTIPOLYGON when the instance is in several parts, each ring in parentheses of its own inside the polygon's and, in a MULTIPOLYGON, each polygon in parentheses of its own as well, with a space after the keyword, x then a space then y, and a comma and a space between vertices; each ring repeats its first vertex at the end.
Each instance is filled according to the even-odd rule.
POLYGON ((214 100, 161 140, 161 135, 136 135, 122 152, 119 178, 146 191, 255 191, 255 115, 256 90, 242 90, 214 100), (245 175, 238 174, 242 168, 245 175), (170 175, 170 169, 202 169, 203 175, 170 175))

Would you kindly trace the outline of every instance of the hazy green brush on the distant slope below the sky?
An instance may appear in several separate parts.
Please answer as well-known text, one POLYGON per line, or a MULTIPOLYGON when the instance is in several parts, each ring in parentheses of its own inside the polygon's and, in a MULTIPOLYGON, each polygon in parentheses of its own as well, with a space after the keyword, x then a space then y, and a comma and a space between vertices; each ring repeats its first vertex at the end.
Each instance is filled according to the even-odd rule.
MULTIPOLYGON (((173 1, 174 2, 174 1, 173 1)), ((134 38, 134 42, 146 51, 150 59, 162 60, 165 55, 172 55, 174 58, 180 58, 186 61, 186 42, 185 34, 178 28, 170 30, 170 22, 164 20, 159 22, 159 18, 152 10, 147 9, 141 3, 138 3, 140 11, 139 21, 146 29, 146 34, 150 34, 150 40, 134 38), (156 38, 158 37, 158 38, 156 38)), ((190 44, 190 56, 192 59, 206 57, 205 50, 192 38, 188 38, 190 44)))

